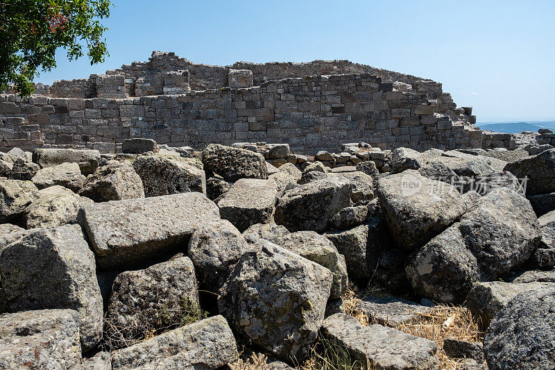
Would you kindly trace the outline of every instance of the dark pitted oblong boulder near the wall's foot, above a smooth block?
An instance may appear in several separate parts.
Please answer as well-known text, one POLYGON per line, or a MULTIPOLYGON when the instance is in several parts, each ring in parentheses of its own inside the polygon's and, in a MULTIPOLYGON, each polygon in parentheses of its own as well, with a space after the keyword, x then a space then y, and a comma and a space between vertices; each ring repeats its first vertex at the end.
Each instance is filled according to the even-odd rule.
POLYGON ((246 149, 210 144, 203 150, 206 171, 219 174, 224 180, 235 182, 239 178, 268 178, 264 155, 246 149))

